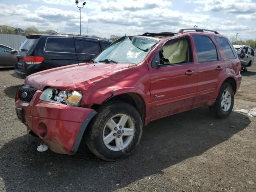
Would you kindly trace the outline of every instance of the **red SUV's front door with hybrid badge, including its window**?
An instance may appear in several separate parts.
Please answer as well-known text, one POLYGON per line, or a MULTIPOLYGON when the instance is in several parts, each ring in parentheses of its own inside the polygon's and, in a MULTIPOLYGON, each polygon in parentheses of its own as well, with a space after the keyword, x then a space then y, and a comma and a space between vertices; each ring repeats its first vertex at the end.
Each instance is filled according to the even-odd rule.
POLYGON ((167 41, 156 54, 149 70, 151 114, 193 104, 198 64, 193 63, 188 36, 167 41))

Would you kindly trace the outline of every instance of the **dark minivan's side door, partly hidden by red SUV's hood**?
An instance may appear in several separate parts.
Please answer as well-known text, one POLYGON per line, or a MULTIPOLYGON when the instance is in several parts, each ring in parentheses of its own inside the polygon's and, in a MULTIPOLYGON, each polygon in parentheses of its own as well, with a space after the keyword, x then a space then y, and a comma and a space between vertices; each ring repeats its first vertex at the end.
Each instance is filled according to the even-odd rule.
POLYGON ((76 55, 79 63, 90 62, 100 53, 98 40, 75 38, 76 55))

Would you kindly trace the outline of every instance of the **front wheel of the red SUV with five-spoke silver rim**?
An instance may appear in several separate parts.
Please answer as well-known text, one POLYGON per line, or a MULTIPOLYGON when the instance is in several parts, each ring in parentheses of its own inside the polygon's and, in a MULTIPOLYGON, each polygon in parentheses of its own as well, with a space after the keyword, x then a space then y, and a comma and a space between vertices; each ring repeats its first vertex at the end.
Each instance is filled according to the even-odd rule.
POLYGON ((142 135, 138 111, 125 102, 109 102, 97 111, 85 132, 90 151, 106 161, 119 160, 131 154, 142 135))

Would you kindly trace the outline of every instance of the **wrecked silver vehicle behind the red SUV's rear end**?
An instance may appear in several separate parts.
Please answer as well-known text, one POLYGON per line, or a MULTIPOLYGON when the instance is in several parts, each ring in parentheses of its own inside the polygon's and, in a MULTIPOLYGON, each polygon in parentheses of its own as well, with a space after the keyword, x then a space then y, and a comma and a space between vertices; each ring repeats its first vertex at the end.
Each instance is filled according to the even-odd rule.
POLYGON ((246 67, 252 66, 254 62, 254 50, 247 45, 233 45, 238 58, 241 61, 241 69, 247 71, 246 67))

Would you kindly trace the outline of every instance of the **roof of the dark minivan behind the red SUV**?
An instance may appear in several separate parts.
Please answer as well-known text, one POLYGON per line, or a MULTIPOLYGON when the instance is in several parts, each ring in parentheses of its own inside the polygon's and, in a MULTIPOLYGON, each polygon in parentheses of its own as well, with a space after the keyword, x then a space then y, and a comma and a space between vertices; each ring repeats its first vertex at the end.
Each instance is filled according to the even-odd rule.
POLYGON ((40 38, 40 36, 46 36, 46 37, 56 37, 56 36, 58 36, 58 37, 59 36, 60 37, 78 37, 78 38, 82 38, 82 39, 98 40, 98 41, 101 41, 101 42, 112 43, 111 40, 92 38, 92 37, 88 37, 88 36, 85 36, 85 35, 63 34, 63 33, 33 34, 33 35, 27 35, 26 38, 33 39, 33 38, 40 38))

